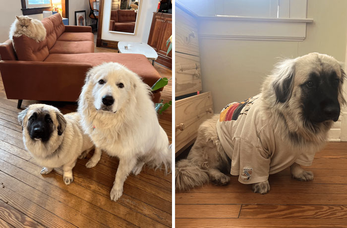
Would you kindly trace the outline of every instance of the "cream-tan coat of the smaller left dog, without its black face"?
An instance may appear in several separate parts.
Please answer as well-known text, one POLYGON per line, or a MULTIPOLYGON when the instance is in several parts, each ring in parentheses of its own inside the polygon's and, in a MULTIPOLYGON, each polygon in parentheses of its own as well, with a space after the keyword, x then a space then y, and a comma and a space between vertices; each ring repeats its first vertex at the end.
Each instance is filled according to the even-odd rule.
MULTIPOLYGON (((54 168, 62 167, 64 182, 70 184, 73 180, 72 169, 76 164, 77 157, 83 151, 89 152, 94 147, 89 136, 83 134, 79 124, 80 115, 71 113, 62 116, 59 110, 53 106, 35 104, 22 111, 18 115, 18 120, 23 127, 23 142, 26 149, 36 162, 43 166, 41 174, 47 174, 54 168), (34 112, 47 112, 52 118, 56 130, 53 131, 48 142, 43 143, 41 140, 30 138, 27 124, 29 117, 34 112), (66 122, 61 135, 58 135, 57 130, 59 125, 58 115, 66 122)), ((100 150, 96 148, 95 154, 99 153, 101 153, 100 150)))

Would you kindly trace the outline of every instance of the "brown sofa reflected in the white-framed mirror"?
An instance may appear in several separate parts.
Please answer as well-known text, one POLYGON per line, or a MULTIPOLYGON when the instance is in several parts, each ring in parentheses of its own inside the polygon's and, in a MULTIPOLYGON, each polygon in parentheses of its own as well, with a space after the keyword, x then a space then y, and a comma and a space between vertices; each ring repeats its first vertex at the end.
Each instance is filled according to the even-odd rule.
POLYGON ((110 32, 135 34, 140 0, 112 0, 110 32))

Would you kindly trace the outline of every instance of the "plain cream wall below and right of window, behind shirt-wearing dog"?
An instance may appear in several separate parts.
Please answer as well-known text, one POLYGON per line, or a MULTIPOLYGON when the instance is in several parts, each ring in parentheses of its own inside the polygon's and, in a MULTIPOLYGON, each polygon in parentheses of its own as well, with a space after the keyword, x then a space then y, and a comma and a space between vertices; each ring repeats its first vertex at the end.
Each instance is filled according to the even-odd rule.
POLYGON ((319 52, 345 61, 347 1, 308 0, 307 7, 307 18, 314 21, 302 42, 199 39, 203 91, 212 91, 216 113, 259 93, 278 57, 319 52))

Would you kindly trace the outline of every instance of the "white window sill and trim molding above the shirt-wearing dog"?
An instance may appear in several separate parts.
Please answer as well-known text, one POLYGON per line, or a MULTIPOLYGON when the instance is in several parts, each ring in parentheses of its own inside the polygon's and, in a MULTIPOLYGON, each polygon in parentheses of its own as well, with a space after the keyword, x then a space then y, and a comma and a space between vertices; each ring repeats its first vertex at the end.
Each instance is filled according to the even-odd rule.
POLYGON ((199 39, 303 41, 310 18, 199 17, 199 39))

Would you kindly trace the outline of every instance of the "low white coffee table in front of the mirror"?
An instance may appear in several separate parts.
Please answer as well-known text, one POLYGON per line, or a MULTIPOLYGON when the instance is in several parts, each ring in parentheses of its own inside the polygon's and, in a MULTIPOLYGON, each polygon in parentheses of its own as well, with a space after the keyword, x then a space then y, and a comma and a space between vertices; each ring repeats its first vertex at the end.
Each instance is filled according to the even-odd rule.
POLYGON ((145 43, 120 41, 118 42, 118 52, 128 54, 142 54, 149 60, 152 60, 152 65, 154 65, 154 60, 158 58, 157 52, 151 46, 145 43), (125 46, 127 46, 127 49, 125 49, 125 46))

